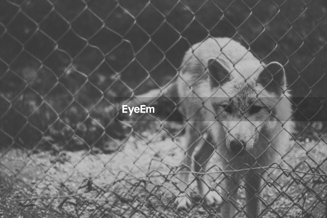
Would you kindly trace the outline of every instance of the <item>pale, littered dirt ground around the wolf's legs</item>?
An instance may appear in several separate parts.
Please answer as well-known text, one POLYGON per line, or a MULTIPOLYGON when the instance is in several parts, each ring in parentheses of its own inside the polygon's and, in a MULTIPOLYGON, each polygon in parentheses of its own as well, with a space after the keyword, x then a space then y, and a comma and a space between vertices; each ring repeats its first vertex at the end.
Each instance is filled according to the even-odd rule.
MULTIPOLYGON (((201 204, 195 192, 189 210, 176 210, 183 137, 141 137, 131 136, 112 154, 1 151, 0 217, 220 217, 219 206, 201 204)), ((325 217, 327 145, 293 144, 285 170, 276 169, 265 184, 262 217, 325 217)), ((217 155, 211 165, 214 187, 222 179, 217 155)), ((242 210, 244 189, 239 195, 242 210)))

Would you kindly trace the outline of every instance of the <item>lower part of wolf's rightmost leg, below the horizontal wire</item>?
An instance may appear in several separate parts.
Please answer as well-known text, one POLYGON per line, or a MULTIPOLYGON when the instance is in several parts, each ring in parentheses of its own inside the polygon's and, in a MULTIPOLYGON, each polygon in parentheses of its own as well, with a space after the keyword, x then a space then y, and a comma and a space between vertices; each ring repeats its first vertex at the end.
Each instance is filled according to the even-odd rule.
POLYGON ((246 207, 245 211, 250 217, 257 218, 261 213, 263 179, 261 175, 250 174, 245 182, 246 207))

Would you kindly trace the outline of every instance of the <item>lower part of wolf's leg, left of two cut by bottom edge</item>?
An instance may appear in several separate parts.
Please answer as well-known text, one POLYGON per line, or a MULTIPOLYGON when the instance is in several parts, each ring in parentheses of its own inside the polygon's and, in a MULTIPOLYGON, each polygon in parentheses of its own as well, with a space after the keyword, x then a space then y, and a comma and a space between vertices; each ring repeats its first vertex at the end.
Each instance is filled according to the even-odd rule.
POLYGON ((221 217, 232 218, 236 215, 237 208, 237 191, 240 184, 240 176, 233 173, 224 178, 222 189, 223 205, 221 208, 221 217))

